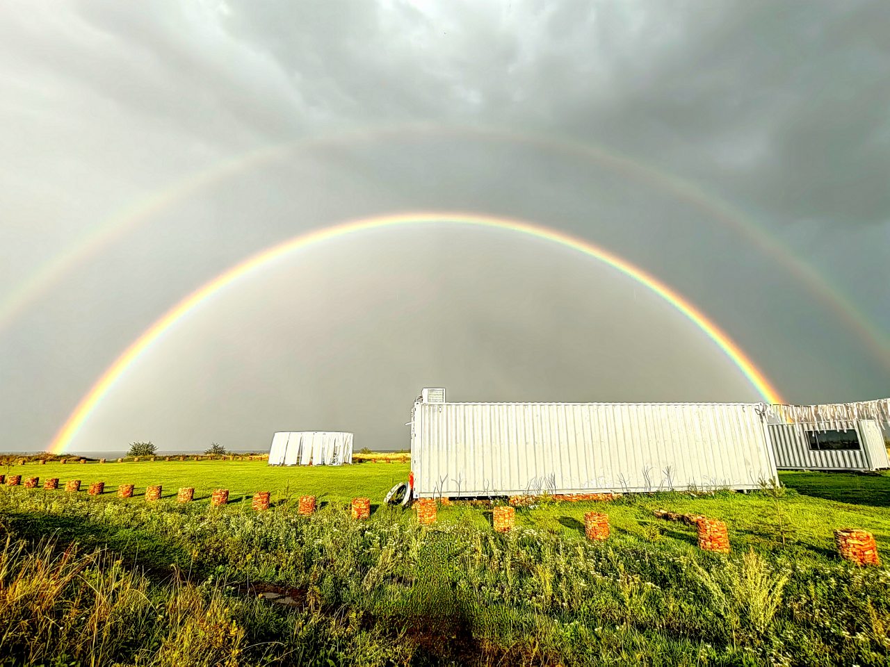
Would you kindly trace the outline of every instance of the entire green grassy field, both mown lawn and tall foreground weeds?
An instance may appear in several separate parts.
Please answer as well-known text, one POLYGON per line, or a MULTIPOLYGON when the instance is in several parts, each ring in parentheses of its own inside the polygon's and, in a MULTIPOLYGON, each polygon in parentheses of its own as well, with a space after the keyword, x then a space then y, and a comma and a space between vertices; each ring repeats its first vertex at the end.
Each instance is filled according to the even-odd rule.
POLYGON ((886 664, 890 572, 837 558, 832 531, 890 554, 890 477, 788 472, 784 488, 611 502, 543 499, 496 534, 490 508, 433 526, 382 506, 409 464, 10 466, 106 493, 0 488, 0 664, 886 664), (121 501, 118 484, 136 485, 121 501), (138 494, 164 486, 160 502, 138 494), (194 486, 196 502, 175 502, 194 486), (214 488, 234 501, 211 508, 214 488), (271 491, 271 510, 250 497, 271 491), (299 517, 296 498, 320 509, 299 517), (354 521, 348 501, 368 496, 354 521), (720 518, 732 554, 656 509, 720 518), (609 514, 589 542, 583 515, 609 514), (275 600, 265 599, 266 596, 275 600), (285 602, 286 604, 282 604, 285 602))

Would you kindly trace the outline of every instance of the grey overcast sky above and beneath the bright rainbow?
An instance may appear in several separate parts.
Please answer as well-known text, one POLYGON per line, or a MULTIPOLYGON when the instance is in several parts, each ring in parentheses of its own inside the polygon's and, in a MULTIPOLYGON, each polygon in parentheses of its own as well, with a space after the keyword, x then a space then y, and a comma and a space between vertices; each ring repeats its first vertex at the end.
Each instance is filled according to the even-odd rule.
MULTIPOLYGON (((250 254, 409 211, 570 232, 684 294, 784 398, 886 397, 887 35, 880 2, 7 2, 0 449, 44 449, 131 342, 250 254)), ((425 386, 759 399, 603 262, 441 224, 217 293, 72 449, 275 430, 398 448, 425 386)))

